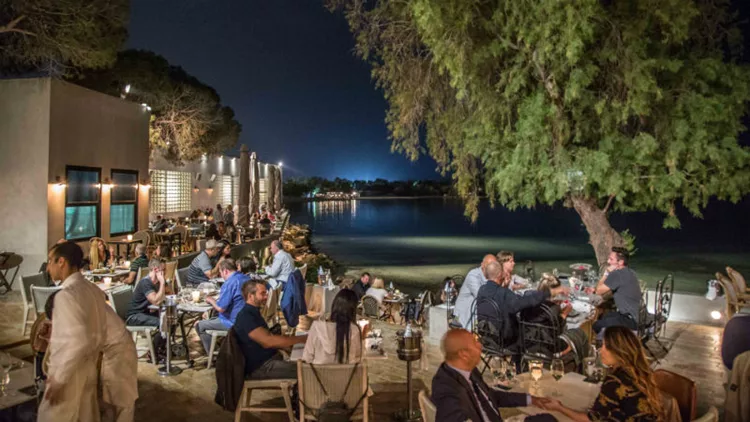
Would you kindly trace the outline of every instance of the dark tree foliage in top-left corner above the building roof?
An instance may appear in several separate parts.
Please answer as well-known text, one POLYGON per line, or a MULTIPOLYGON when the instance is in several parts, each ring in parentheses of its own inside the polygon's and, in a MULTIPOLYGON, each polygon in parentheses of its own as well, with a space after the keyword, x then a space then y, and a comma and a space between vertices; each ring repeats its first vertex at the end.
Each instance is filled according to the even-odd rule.
POLYGON ((0 67, 71 76, 110 66, 129 11, 128 0, 0 0, 0 67))

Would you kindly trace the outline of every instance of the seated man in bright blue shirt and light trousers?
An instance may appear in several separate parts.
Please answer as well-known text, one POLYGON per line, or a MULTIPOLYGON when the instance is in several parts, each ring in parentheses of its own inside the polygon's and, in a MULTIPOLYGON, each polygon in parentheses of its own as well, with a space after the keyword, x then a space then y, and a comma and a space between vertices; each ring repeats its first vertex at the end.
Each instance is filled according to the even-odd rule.
MULTIPOLYGON (((198 336, 201 338, 203 343, 203 349, 208 354, 211 349, 211 334, 208 334, 208 330, 222 330, 226 331, 232 328, 234 321, 237 319, 237 314, 240 313, 242 308, 245 306, 245 299, 242 297, 242 285, 245 284, 249 278, 237 272, 235 269, 237 264, 234 260, 229 258, 219 263, 219 274, 224 279, 224 285, 221 286, 221 293, 219 294, 219 300, 212 297, 207 297, 206 302, 213 306, 216 312, 219 313, 217 318, 204 319, 198 321, 196 330, 198 336)), ((213 358, 209 356, 209 359, 213 358)))

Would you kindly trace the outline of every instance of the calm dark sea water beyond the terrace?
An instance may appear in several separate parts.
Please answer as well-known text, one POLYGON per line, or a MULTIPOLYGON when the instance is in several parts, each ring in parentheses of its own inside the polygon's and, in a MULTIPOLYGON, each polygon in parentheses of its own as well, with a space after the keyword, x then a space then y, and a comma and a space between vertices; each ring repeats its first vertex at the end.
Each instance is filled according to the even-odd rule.
MULTIPOLYGON (((702 292, 705 280, 726 265, 750 269, 750 224, 742 218, 749 205, 712 204, 702 220, 685 217, 681 230, 662 229, 658 213, 614 215, 612 222, 635 234, 639 250, 632 267, 644 280, 653 283, 672 272, 678 289, 702 292)), ((471 224, 454 199, 306 202, 289 208, 293 222, 311 227, 320 251, 352 271, 368 269, 402 283, 438 283, 502 249, 516 253, 517 272, 527 260, 537 272, 595 262, 588 234, 570 209, 509 211, 482 202, 479 220, 471 224)))

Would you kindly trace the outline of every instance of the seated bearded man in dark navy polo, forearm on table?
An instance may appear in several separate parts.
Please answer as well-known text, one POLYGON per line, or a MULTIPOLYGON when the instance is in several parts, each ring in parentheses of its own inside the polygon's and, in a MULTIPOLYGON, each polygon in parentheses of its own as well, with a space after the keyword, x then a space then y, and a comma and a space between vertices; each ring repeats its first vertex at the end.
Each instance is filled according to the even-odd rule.
POLYGON ((234 331, 245 356, 245 378, 297 379, 297 364, 283 360, 278 349, 304 343, 307 336, 281 336, 268 331, 268 324, 260 308, 268 301, 268 290, 263 282, 246 281, 242 286, 245 307, 237 314, 234 331))

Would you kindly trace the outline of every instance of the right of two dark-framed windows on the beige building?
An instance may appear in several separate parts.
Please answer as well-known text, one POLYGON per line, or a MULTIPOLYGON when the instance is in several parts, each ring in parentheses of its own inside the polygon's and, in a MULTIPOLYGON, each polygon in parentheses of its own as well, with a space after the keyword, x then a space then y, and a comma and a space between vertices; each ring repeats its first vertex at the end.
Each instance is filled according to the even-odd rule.
POLYGON ((138 172, 112 170, 109 233, 117 236, 138 229, 138 172))

